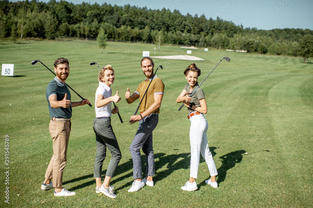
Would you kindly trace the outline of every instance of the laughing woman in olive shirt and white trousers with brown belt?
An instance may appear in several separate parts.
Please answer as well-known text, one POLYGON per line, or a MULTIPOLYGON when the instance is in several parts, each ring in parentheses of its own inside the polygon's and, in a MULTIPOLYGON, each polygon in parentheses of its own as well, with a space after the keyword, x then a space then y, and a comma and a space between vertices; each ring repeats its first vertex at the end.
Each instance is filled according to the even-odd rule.
POLYGON ((215 180, 215 176, 218 173, 208 146, 208 121, 203 116, 203 114, 207 113, 207 103, 205 101, 203 90, 201 88, 197 89, 199 86, 197 80, 201 71, 195 64, 191 64, 184 71, 184 74, 188 83, 176 99, 176 102, 183 102, 183 104, 188 107, 187 117, 190 120, 189 139, 191 158, 189 181, 187 181, 185 186, 182 186, 181 188, 186 191, 194 191, 198 189, 196 178, 198 178, 200 153, 207 163, 211 175, 211 178, 206 180, 205 183, 217 188, 218 184, 215 180), (194 91, 195 93, 192 94, 194 91), (192 97, 190 97, 191 94, 192 97))

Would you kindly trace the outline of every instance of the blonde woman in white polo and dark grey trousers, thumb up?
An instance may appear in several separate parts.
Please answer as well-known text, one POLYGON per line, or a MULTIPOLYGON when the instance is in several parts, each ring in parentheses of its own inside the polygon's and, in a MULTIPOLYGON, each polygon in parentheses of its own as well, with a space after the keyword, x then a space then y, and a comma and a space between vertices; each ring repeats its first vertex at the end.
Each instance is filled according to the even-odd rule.
POLYGON ((96 193, 102 192, 110 198, 116 197, 114 191, 112 191, 114 186, 110 186, 110 180, 122 157, 121 150, 111 126, 111 114, 119 112, 117 107, 116 109, 111 109, 111 103, 112 101, 118 103, 121 100, 121 97, 118 96, 118 91, 112 96, 112 90, 110 87, 113 84, 114 79, 114 70, 111 65, 107 65, 100 70, 98 75, 99 86, 95 95, 96 118, 93 125, 97 146, 94 167, 96 193), (103 161, 106 156, 106 148, 108 148, 112 157, 105 174, 105 179, 102 183, 101 172, 103 161))

